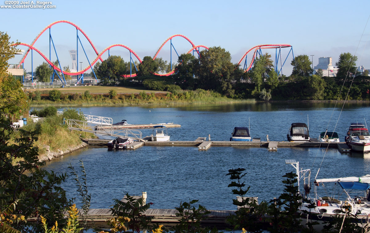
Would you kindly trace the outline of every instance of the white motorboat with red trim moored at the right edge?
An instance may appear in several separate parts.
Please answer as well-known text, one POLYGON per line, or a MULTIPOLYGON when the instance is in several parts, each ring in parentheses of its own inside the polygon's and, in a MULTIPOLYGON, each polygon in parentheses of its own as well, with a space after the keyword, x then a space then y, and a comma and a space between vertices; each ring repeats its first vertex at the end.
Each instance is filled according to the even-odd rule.
POLYGON ((353 151, 370 151, 370 134, 366 128, 352 128, 349 131, 347 144, 353 151))

